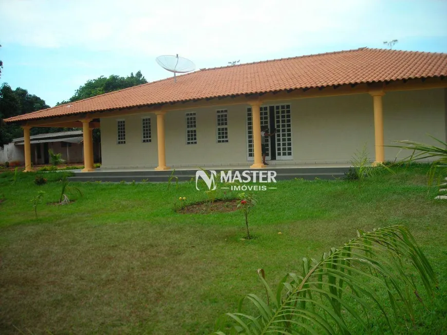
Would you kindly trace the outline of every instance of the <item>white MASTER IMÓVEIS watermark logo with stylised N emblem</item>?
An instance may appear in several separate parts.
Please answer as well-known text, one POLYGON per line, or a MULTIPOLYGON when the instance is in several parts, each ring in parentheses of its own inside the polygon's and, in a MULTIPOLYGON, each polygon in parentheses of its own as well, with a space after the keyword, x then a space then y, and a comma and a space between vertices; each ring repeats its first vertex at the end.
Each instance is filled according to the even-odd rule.
POLYGON ((231 191, 267 191, 275 190, 270 187, 276 183, 276 171, 220 171, 215 170, 198 170, 196 172, 196 190, 200 189, 199 180, 202 179, 208 191, 214 191, 218 188, 217 182, 220 183, 219 189, 227 189, 231 191), (269 185, 266 185, 269 184, 269 185))

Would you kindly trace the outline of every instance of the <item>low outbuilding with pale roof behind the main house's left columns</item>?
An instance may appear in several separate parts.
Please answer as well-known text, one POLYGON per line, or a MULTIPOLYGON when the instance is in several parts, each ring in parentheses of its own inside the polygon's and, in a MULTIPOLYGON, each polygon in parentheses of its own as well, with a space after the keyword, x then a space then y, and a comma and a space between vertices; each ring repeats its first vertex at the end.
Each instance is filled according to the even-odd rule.
MULTIPOLYGON (((49 163, 49 150, 62 154, 67 163, 83 163, 83 133, 82 131, 66 131, 30 136, 31 162, 34 165, 49 163)), ((15 138, 0 150, 0 163, 25 163, 24 137, 15 138)), ((100 161, 100 145, 94 144, 95 161, 100 161)))

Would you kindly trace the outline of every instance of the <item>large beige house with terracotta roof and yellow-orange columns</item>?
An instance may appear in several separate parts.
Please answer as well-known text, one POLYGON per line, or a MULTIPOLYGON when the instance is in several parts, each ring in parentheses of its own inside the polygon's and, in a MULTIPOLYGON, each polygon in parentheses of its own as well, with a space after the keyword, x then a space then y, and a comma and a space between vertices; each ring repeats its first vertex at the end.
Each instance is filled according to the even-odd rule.
POLYGON ((397 140, 447 137, 447 53, 360 48, 225 66, 12 117, 24 129, 82 127, 84 171, 93 171, 92 129, 102 166, 265 167, 347 163, 365 144, 371 160, 394 160, 397 140))

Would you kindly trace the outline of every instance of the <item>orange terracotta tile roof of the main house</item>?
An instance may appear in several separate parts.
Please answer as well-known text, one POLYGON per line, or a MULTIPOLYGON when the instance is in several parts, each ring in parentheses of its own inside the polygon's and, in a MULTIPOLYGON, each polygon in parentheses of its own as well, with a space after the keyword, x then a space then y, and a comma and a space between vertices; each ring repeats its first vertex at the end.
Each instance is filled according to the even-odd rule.
POLYGON ((5 121, 237 96, 295 88, 447 76, 447 53, 360 48, 202 69, 5 121))

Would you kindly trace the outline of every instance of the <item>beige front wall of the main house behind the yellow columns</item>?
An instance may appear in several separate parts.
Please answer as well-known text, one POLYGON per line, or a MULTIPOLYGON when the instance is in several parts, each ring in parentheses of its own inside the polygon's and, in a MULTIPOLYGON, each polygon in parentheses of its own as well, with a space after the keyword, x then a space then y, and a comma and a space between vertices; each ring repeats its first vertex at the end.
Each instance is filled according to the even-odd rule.
MULTIPOLYGON (((292 113, 293 160, 282 163, 346 163, 366 144, 374 160, 373 98, 367 94, 309 98, 288 103, 292 113)), ((270 105, 266 103, 266 105, 270 105)), ((170 111, 165 116, 166 164, 247 165, 247 105, 170 111), (216 110, 228 109, 229 142, 216 141, 216 110), (185 113, 196 112, 197 144, 187 145, 185 113)), ((385 145, 412 139, 431 142, 426 134, 446 137, 443 89, 390 92, 383 97, 385 145)), ((141 139, 143 115, 101 119, 102 166, 157 166, 157 124, 151 116, 152 142, 141 139), (126 144, 117 144, 117 120, 126 121, 126 144)), ((394 160, 395 148, 385 148, 394 160)), ((401 156, 402 157, 402 156, 401 156)))

